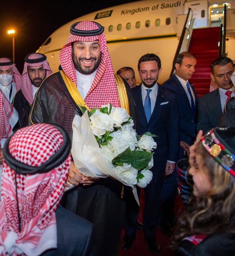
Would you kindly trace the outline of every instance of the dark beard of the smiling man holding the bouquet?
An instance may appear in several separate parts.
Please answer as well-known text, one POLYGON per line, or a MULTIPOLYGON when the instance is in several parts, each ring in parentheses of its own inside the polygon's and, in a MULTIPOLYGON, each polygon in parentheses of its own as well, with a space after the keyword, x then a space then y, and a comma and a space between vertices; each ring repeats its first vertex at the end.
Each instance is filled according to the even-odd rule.
POLYGON ((101 52, 98 58, 96 57, 92 57, 90 59, 86 59, 86 58, 78 58, 75 56, 74 52, 72 53, 72 59, 73 59, 73 65, 76 68, 76 70, 78 70, 78 72, 80 72, 83 75, 90 75, 92 74, 100 65, 100 60, 101 60, 101 52), (91 67, 82 67, 81 65, 81 61, 85 60, 85 61, 89 61, 89 60, 94 60, 94 65, 91 67))

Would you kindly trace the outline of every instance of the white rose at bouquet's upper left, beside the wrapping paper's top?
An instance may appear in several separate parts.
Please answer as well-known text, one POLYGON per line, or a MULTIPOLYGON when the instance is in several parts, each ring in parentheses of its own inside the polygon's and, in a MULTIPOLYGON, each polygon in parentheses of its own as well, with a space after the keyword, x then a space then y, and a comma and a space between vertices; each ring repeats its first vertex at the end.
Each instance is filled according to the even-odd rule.
POLYGON ((91 130, 93 134, 101 138, 105 132, 113 131, 113 121, 108 114, 101 113, 98 109, 90 116, 91 130))

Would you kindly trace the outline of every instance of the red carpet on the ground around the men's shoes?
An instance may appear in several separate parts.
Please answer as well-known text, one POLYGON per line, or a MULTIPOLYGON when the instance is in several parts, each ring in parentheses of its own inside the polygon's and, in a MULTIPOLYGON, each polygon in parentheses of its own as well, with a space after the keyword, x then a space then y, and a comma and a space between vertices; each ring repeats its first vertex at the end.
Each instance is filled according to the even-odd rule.
MULTIPOLYGON (((140 209, 139 209, 139 215, 138 215, 138 220, 141 222, 142 222, 142 217, 143 217, 144 203, 145 203, 144 202, 144 190, 141 189, 140 209)), ((178 212, 183 211, 183 210, 184 210, 183 202, 182 202, 180 196, 177 196, 176 204, 175 204, 175 208, 174 208, 176 216, 177 216, 178 212)), ((124 236, 125 236, 125 232, 122 229, 121 239, 123 239, 124 236)), ((160 244, 160 254, 159 255, 160 256, 173 256, 175 252, 169 248, 170 238, 165 236, 164 234, 162 234, 159 229, 157 229, 156 238, 157 238, 158 243, 160 244)), ((142 230, 136 230, 136 239, 132 244, 132 248, 130 250, 124 251, 124 250, 122 250, 122 247, 120 245, 118 256, 142 256, 142 255, 143 256, 152 256, 152 255, 156 255, 156 254, 153 254, 152 252, 150 252, 148 244, 144 240, 144 232, 142 230)))

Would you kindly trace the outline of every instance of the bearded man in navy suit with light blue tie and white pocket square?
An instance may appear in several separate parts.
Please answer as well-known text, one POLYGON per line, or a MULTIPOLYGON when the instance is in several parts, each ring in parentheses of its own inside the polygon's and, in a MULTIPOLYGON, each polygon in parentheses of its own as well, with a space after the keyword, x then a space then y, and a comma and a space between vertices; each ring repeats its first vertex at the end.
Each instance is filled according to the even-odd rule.
POLYGON ((152 181, 144 188, 145 208, 143 214, 145 240, 154 253, 160 246, 155 238, 160 192, 165 174, 173 172, 179 156, 179 106, 176 94, 159 86, 158 76, 162 71, 161 60, 155 54, 143 55, 138 63, 138 73, 142 83, 132 89, 132 95, 138 108, 140 133, 151 132, 157 135, 154 140, 154 166, 152 181))

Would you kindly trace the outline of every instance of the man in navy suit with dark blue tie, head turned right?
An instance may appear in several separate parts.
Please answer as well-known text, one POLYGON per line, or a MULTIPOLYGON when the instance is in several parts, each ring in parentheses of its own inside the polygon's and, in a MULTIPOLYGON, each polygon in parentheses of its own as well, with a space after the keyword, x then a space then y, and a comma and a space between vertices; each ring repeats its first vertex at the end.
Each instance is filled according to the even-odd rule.
MULTIPOLYGON (((181 52, 175 63, 175 74, 162 86, 177 94, 180 116, 179 159, 186 158, 189 146, 196 137, 197 93, 189 81, 195 72, 196 57, 190 52, 181 52)), ((169 233, 174 224, 174 201, 177 196, 177 170, 167 175, 161 192, 159 226, 162 232, 169 233)))

